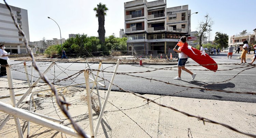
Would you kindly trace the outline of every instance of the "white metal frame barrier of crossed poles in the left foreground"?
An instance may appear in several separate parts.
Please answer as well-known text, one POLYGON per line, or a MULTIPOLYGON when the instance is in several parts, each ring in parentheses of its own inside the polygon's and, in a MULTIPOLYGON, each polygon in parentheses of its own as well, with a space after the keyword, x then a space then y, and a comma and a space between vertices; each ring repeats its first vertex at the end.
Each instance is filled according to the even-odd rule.
MULTIPOLYGON (((98 91, 98 85, 100 86, 104 86, 102 83, 100 83, 100 81, 103 81, 103 79, 97 80, 98 79, 98 75, 99 75, 99 71, 97 72, 97 75, 95 76, 94 74, 92 74, 93 78, 89 77, 89 70, 90 70, 90 66, 88 61, 86 60, 88 68, 86 70, 84 70, 84 76, 85 76, 85 83, 79 83, 79 84, 74 84, 74 85, 69 85, 69 86, 60 86, 57 87, 57 89, 61 89, 61 88, 66 88, 66 87, 70 87, 70 86, 77 86, 77 85, 86 85, 86 95, 87 95, 87 104, 88 104, 88 113, 89 113, 89 125, 90 125, 90 135, 86 135, 87 137, 96 137, 97 133, 98 133, 98 129, 99 129, 99 125, 101 123, 101 119, 106 107, 106 103, 108 102, 108 98, 110 95, 110 91, 112 88, 112 83, 114 81, 116 72, 117 72, 117 68, 119 66, 120 60, 117 60, 117 64, 114 70, 114 74, 111 78, 111 83, 109 85, 108 88, 108 92, 106 94, 103 106, 101 106, 101 101, 100 101, 100 96, 99 96, 99 91, 98 91), (90 81, 92 80, 92 81, 90 81), (93 110, 92 110, 92 103, 91 103, 91 90, 90 90, 90 83, 93 83, 93 87, 91 88, 91 90, 94 89, 94 87, 96 87, 97 90, 97 94, 98 94, 98 100, 99 100, 99 106, 100 106, 100 114, 99 114, 99 119, 96 125, 96 128, 94 128, 94 124, 93 124, 93 110)), ((52 62, 47 68, 46 70, 43 72, 44 74, 46 74, 54 65, 55 63, 52 62)), ((99 67, 98 70, 100 70, 101 67, 101 62, 99 63, 99 67)), ((34 113, 31 112, 31 107, 32 107, 32 103, 34 104, 34 107, 36 108, 35 103, 32 101, 33 100, 33 94, 34 93, 38 93, 38 92, 45 92, 51 89, 43 89, 43 90, 37 90, 37 91, 32 91, 34 86, 37 85, 37 83, 40 81, 41 78, 38 78, 34 83, 32 83, 32 77, 31 77, 31 84, 30 85, 30 81, 29 81, 29 77, 28 77, 28 71, 27 71, 27 66, 26 66, 26 62, 24 62, 24 68, 25 68, 25 72, 26 72, 26 77, 27 77, 27 81, 28 81, 28 90, 25 93, 21 93, 21 94, 14 94, 14 87, 13 87, 13 81, 12 81, 12 73, 11 73, 11 68, 10 65, 6 66, 6 73, 7 73, 7 77, 8 77, 8 85, 10 88, 10 95, 8 96, 4 96, 1 97, 2 98, 11 98, 12 101, 12 106, 2 103, 0 102, 0 111, 3 111, 5 113, 8 113, 9 115, 2 121, 2 123, 0 124, 0 130, 3 128, 3 126, 6 124, 6 122, 11 118, 11 116, 14 116, 14 120, 15 120, 15 125, 17 128, 17 132, 18 132, 18 137, 19 138, 23 138, 23 133, 22 133, 22 129, 20 127, 20 123, 19 123, 19 118, 27 120, 28 121, 28 129, 27 129, 27 137, 29 137, 29 131, 30 131, 30 122, 51 128, 53 130, 71 135, 71 136, 75 136, 75 137, 81 137, 81 135, 79 135, 77 132, 75 132, 74 129, 71 129, 67 126, 63 126, 61 124, 58 124, 60 122, 62 122, 61 120, 52 118, 52 117, 48 117, 39 113, 34 113), (15 103, 15 96, 22 96, 19 101, 17 102, 17 104, 15 103), (29 102, 29 110, 24 110, 24 109, 19 109, 17 108, 17 106, 23 102, 23 100, 27 98, 27 102, 29 102), (55 123, 55 122, 58 123, 55 123)), ((33 74, 33 72, 31 72, 31 74, 33 74)), ((31 75, 33 76, 33 75, 31 75)))

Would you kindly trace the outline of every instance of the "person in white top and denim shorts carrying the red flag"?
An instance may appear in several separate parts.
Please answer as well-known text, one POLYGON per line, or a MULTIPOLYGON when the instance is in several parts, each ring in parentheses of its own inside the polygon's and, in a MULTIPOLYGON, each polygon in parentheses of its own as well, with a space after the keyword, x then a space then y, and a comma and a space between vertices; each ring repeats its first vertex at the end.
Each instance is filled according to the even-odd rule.
POLYGON ((194 80, 197 74, 196 74, 196 73, 192 73, 192 72, 189 71, 187 68, 185 68, 185 64, 186 64, 186 62, 187 62, 188 56, 187 56, 185 53, 183 53, 183 52, 181 51, 182 49, 188 48, 187 37, 186 37, 186 36, 182 36, 180 42, 183 43, 183 45, 180 46, 180 47, 178 48, 178 50, 175 49, 175 47, 173 48, 173 50, 174 50, 175 52, 179 53, 178 76, 175 77, 175 78, 173 78, 173 79, 175 79, 175 80, 181 80, 181 70, 184 70, 184 71, 186 71, 187 73, 191 74, 192 80, 194 80))

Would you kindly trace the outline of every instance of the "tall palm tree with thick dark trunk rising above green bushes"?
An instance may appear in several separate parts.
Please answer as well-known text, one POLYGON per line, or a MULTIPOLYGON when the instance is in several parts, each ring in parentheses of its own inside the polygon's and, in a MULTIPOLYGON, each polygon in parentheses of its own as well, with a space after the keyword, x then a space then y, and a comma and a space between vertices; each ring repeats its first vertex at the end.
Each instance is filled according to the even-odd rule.
POLYGON ((98 24, 99 24, 99 29, 98 29, 98 33, 99 33, 99 39, 101 44, 105 43, 105 15, 106 15, 106 11, 108 11, 109 9, 106 7, 105 4, 99 3, 97 4, 97 7, 95 7, 93 9, 96 12, 96 17, 98 18, 98 24))

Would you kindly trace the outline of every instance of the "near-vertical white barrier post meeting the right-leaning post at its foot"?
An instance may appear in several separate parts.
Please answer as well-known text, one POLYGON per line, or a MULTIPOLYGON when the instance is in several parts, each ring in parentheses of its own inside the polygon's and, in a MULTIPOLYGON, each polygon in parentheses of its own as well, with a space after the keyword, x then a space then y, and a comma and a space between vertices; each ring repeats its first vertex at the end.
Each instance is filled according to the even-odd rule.
POLYGON ((91 92, 90 92, 90 83, 89 83, 89 71, 84 71, 85 83, 86 83, 86 95, 87 95, 87 105, 89 113, 89 122, 90 122, 90 134, 91 137, 94 137, 94 128, 93 128, 93 111, 91 109, 91 92))

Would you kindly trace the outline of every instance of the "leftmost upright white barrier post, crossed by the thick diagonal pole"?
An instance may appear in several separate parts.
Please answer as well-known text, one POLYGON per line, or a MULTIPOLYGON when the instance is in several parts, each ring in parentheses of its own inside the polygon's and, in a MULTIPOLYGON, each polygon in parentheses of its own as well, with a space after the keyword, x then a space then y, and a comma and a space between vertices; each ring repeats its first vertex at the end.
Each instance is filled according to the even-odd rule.
MULTIPOLYGON (((10 91, 12 106, 16 108, 15 94, 14 94, 14 89, 13 89, 14 87, 13 87, 13 81, 12 81, 12 72, 11 72, 11 68, 8 64, 6 66, 6 73, 7 73, 8 85, 10 88, 9 91, 10 91)), ((16 128, 17 128, 18 136, 19 136, 19 138, 23 138, 22 130, 21 130, 20 123, 19 123, 19 118, 14 117, 14 120, 15 120, 15 124, 16 124, 16 128)))

